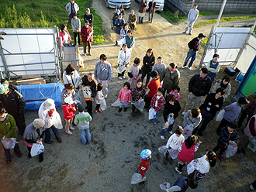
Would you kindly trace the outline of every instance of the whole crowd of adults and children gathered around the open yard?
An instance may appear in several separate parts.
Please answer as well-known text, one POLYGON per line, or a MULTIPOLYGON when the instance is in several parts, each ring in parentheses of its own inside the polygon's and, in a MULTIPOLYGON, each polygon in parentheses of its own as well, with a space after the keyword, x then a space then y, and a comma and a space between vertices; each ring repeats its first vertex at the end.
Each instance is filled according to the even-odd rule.
MULTIPOLYGON (((149 6, 150 22, 152 22, 154 17, 154 7, 155 2, 153 0, 149 6)), ((144 8, 145 0, 142 0, 140 2, 141 12, 139 11, 140 23, 143 23, 144 8)), ((195 11, 196 8, 197 5, 194 6, 193 10, 195 11)), ((71 22, 73 33, 77 37, 75 39, 78 39, 78 44, 80 44, 79 33, 81 33, 84 53, 86 53, 86 46, 88 45, 88 53, 92 55, 93 16, 90 13, 90 9, 86 9, 86 14, 84 15, 85 26, 82 27, 76 15, 79 7, 74 3, 74 0, 67 4, 66 9, 69 12, 68 22, 71 22)), ((190 16, 195 16, 195 13, 191 13, 190 16)), ((165 146, 167 152, 164 153, 164 163, 172 164, 174 159, 178 158, 179 162, 178 166, 175 167, 175 171, 179 174, 182 174, 183 166, 189 162, 188 166, 195 168, 188 173, 188 176, 178 179, 175 182, 175 186, 171 187, 169 191, 185 191, 189 187, 195 188, 198 185, 198 181, 209 172, 209 168, 216 165, 216 156, 219 156, 220 161, 223 161, 223 153, 229 145, 238 146, 237 153, 246 153, 244 147, 247 146, 249 139, 251 137, 256 139, 256 92, 247 95, 247 98, 241 97, 223 108, 223 101, 230 95, 230 77, 225 75, 222 79, 216 80, 216 74, 220 70, 220 63, 218 62, 220 56, 219 54, 214 54, 213 60, 209 60, 207 66, 202 67, 199 74, 195 74, 189 80, 187 102, 184 106, 181 106, 179 102, 179 99, 182 97, 179 94, 181 74, 176 63, 165 65, 161 56, 155 60, 154 51, 149 48, 143 57, 142 63, 140 58, 136 57, 129 67, 132 49, 135 44, 135 39, 131 36, 131 33, 135 29, 137 19, 132 10, 129 15, 129 23, 126 23, 123 19, 123 14, 124 10, 120 10, 119 18, 115 22, 116 44, 120 38, 123 39, 122 49, 118 53, 116 72, 119 80, 125 80, 123 88, 119 91, 118 112, 122 110, 126 112, 128 105, 131 103, 131 115, 133 117, 140 116, 142 111, 148 111, 148 122, 153 122, 153 125, 157 125, 162 111, 164 128, 159 132, 160 138, 165 139, 166 135, 171 135, 168 137, 168 142, 165 146), (129 67, 127 80, 125 77, 126 67, 129 67), (144 81, 145 77, 146 80, 144 81), (204 97, 206 98, 202 102, 204 97), (192 102, 194 102, 193 106, 192 102), (178 118, 178 115, 181 115, 182 108, 184 108, 184 111, 182 111, 182 115, 184 115, 183 122, 174 128, 175 120, 178 118), (221 108, 224 109, 225 113, 220 125, 216 128, 216 134, 220 136, 218 141, 216 141, 216 147, 213 150, 209 150, 201 158, 194 159, 194 153, 202 143, 199 141, 199 138, 202 137, 209 122, 214 121, 216 113, 221 108), (240 118, 237 125, 235 122, 239 115, 240 118), (243 121, 247 116, 244 136, 237 144, 237 129, 243 128, 243 121), (197 135, 195 135, 196 133, 197 135), (220 153, 217 153, 219 150, 220 153)), ((192 33, 192 24, 196 18, 190 22, 190 33, 192 33)), ((188 27, 185 29, 185 33, 188 27)), ((61 26, 60 36, 64 45, 70 43, 70 35, 65 25, 61 26)), ((199 33, 199 36, 189 42, 189 53, 182 68, 185 68, 191 58, 189 63, 189 70, 191 70, 196 52, 199 50, 200 39, 203 37, 205 36, 199 33)), ((84 145, 88 145, 92 140, 89 122, 93 121, 93 111, 96 115, 105 110, 103 109, 103 104, 104 102, 106 103, 106 98, 108 98, 108 87, 111 79, 112 67, 107 61, 105 54, 99 56, 99 61, 95 63, 94 72, 88 73, 84 77, 80 77, 78 71, 71 64, 64 71, 64 90, 61 93, 61 101, 64 111, 65 132, 68 135, 72 135, 71 131, 77 125, 81 135, 81 143, 84 145), (88 97, 85 98, 85 108, 81 105, 81 87, 86 87, 90 92, 88 97), (95 102, 94 109, 92 107, 93 102, 95 102), (85 109, 87 112, 85 112, 85 109)), ((57 112, 53 99, 48 98, 46 101, 43 101, 38 111, 39 118, 34 119, 27 126, 24 117, 25 105, 26 102, 16 90, 16 87, 9 84, 8 81, 2 80, 0 84, 0 137, 8 142, 10 139, 16 138, 17 134, 21 136, 29 151, 28 157, 31 158, 30 152, 34 143, 44 142, 52 144, 54 142, 51 139, 51 130, 54 132, 57 142, 62 142, 59 129, 62 129, 63 125, 61 115, 57 112), (17 132, 16 126, 18 127, 17 132)), ((11 163, 10 149, 6 149, 5 146, 3 146, 3 149, 6 163, 11 163)), ((18 143, 16 143, 13 149, 16 156, 22 156, 18 143)), ((140 157, 142 162, 140 163, 139 172, 141 177, 145 178, 145 173, 150 165, 150 149, 143 150, 140 153, 140 157)), ((43 161, 43 153, 40 153, 39 161, 43 161)), ((254 189, 255 186, 254 182, 250 188, 254 189)))

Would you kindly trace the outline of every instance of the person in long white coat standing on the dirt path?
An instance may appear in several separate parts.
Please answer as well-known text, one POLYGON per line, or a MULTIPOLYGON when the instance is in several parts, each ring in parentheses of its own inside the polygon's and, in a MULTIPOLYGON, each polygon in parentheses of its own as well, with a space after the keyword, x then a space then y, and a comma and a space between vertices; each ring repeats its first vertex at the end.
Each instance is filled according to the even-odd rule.
POLYGON ((116 72, 118 74, 118 78, 125 79, 124 73, 126 72, 126 67, 129 66, 130 62, 130 51, 127 50, 127 45, 123 44, 122 50, 118 53, 118 67, 116 72))

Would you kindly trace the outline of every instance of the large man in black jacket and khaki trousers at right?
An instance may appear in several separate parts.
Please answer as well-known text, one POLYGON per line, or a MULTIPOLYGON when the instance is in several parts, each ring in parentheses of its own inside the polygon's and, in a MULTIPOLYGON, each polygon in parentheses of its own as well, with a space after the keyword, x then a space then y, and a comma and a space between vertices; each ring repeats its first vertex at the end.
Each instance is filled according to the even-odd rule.
POLYGON ((212 85, 211 79, 207 76, 208 70, 203 67, 200 74, 195 74, 189 81, 189 96, 182 115, 189 110, 192 101, 195 100, 193 108, 198 108, 202 97, 209 93, 212 85))

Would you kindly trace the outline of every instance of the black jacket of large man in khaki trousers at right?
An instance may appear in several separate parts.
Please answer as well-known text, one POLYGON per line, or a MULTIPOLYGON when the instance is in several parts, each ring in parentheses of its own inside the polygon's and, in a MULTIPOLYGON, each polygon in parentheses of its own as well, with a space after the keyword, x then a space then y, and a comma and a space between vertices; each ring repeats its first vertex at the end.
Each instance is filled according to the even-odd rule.
POLYGON ((199 74, 195 74, 189 81, 189 92, 195 96, 205 96, 209 93, 212 81, 206 76, 204 79, 199 74))

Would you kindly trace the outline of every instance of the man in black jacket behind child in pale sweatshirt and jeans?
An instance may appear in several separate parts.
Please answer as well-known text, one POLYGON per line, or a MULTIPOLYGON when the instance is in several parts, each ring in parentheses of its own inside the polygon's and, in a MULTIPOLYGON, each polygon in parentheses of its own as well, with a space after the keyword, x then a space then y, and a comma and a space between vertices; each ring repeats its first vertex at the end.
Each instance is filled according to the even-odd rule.
POLYGON ((93 98, 95 98, 96 94, 97 94, 97 81, 94 78, 94 74, 89 73, 88 75, 85 75, 82 79, 81 79, 82 83, 81 85, 83 87, 85 86, 89 86, 92 94, 91 94, 91 100, 90 101, 85 101, 87 104, 87 111, 88 113, 92 116, 92 100, 93 98))

